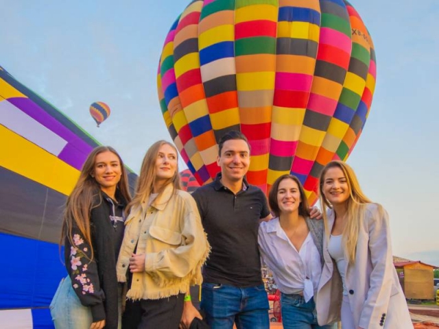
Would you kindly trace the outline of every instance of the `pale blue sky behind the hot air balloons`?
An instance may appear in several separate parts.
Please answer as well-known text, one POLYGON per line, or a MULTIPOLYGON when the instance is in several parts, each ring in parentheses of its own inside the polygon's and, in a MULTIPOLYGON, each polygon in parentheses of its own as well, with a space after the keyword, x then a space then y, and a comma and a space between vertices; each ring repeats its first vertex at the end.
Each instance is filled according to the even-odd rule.
MULTIPOLYGON (((156 70, 187 3, 0 0, 0 65, 138 171, 147 147, 170 140, 156 70), (100 128, 93 101, 112 109, 100 128)), ((394 254, 439 266, 439 2, 351 3, 375 43, 377 87, 348 163, 390 213, 394 254)))

